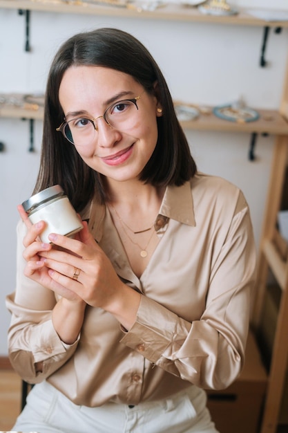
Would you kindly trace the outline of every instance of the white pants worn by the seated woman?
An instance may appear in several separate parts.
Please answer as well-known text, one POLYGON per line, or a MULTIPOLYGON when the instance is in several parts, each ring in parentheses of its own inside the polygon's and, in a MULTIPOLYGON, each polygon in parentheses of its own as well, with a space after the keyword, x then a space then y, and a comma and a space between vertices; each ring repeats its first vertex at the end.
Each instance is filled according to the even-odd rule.
POLYGON ((49 383, 39 383, 12 430, 38 433, 218 433, 206 393, 191 386, 165 400, 134 407, 78 406, 49 383))

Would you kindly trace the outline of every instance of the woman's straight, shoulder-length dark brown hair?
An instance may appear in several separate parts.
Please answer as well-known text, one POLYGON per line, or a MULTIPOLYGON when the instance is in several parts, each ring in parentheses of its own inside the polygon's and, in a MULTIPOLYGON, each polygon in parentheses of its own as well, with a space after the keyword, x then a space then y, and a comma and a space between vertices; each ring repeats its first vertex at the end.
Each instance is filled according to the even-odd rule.
POLYGON ((56 128, 64 119, 59 86, 70 66, 104 66, 131 75, 157 98, 163 115, 157 118, 157 145, 144 167, 141 180, 155 186, 182 185, 196 172, 189 145, 173 107, 166 81, 148 50, 132 35, 116 28, 99 28, 70 37, 58 50, 50 67, 44 109, 41 162, 34 192, 59 184, 77 212, 93 195, 106 200, 103 176, 84 163, 75 147, 56 128))

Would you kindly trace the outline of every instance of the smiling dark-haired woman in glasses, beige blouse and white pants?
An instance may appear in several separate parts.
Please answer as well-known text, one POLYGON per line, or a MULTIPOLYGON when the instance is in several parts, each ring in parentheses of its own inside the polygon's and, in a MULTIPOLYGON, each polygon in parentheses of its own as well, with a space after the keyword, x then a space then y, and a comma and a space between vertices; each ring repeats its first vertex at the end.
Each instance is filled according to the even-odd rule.
POLYGON ((37 385, 14 430, 215 433, 203 389, 243 366, 249 209, 197 172, 159 67, 121 30, 52 62, 35 192, 55 184, 84 228, 42 243, 19 206, 9 351, 37 385))

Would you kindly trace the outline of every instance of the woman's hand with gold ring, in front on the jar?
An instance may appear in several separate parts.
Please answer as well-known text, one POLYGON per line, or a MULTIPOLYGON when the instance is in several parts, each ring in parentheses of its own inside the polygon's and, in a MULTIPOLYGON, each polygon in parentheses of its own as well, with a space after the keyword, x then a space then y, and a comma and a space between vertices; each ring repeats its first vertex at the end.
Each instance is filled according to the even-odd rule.
POLYGON ((81 297, 86 304, 101 307, 115 316, 122 317, 124 297, 128 293, 131 297, 132 292, 137 295, 136 304, 134 295, 134 305, 137 308, 140 294, 119 279, 111 261, 88 231, 85 221, 83 225, 83 230, 76 234, 75 239, 60 234, 50 234, 50 241, 60 249, 52 248, 50 251, 41 252, 41 257, 44 257, 51 279, 57 283, 54 287, 59 287, 59 291, 57 290, 59 294, 68 289, 81 297))

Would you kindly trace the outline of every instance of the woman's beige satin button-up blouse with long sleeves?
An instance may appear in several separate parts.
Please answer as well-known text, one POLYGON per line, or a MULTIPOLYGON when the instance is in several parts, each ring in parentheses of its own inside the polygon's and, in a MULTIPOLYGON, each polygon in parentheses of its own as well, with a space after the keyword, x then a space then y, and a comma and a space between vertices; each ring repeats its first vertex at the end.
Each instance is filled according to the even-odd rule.
POLYGON ((227 387, 240 373, 255 280, 249 208, 222 178, 197 174, 167 187, 155 222, 160 242, 138 279, 111 216, 91 205, 90 230, 119 277, 142 293, 137 320, 124 332, 101 308, 86 308, 77 341, 64 344, 52 326, 55 294, 23 275, 18 225, 17 288, 10 360, 31 383, 47 379, 77 405, 135 404, 166 398, 192 384, 227 387), (35 362, 44 362, 35 373, 35 362))

